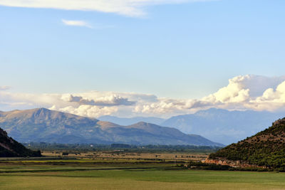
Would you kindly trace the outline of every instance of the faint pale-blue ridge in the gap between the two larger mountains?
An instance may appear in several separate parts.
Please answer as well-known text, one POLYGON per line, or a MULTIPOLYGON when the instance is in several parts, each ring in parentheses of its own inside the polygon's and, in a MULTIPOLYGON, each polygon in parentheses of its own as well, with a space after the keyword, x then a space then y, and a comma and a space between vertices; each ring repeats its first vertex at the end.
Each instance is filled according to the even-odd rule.
POLYGON ((118 125, 133 125, 137 122, 150 122, 155 125, 160 125, 162 122, 165 121, 165 119, 162 119, 160 117, 115 117, 110 115, 104 115, 101 117, 98 117, 98 120, 106 121, 106 122, 114 122, 118 125))

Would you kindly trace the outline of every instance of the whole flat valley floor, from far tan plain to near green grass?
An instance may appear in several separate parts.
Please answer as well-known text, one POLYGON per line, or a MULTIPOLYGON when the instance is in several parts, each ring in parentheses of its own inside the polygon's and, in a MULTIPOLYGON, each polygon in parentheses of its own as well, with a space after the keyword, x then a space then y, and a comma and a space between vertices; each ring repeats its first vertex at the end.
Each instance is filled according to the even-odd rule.
POLYGON ((51 152, 57 151, 43 152, 44 157, 39 158, 1 158, 0 189, 220 190, 282 189, 285 186, 284 173, 228 171, 232 168, 190 162, 206 154, 103 150, 82 151, 76 155, 70 153, 72 150, 64 150, 58 151, 61 157, 48 156, 51 152), (62 155, 63 152, 69 154, 62 155), (184 167, 189 162, 195 167, 184 167))

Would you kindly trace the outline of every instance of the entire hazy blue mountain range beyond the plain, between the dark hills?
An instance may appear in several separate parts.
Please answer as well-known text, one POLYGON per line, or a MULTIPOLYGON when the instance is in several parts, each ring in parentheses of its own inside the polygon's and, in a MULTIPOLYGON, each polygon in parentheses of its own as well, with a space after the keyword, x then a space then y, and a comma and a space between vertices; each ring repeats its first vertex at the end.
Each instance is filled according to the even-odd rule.
POLYGON ((42 108, 0 112, 0 127, 20 142, 209 145, 212 143, 210 141, 222 144, 237 142, 264 130, 272 121, 282 117, 282 112, 228 111, 212 108, 195 114, 177 115, 168 120, 159 117, 99 117, 105 121, 103 122, 42 108), (165 127, 160 128, 159 125, 165 127), (150 128, 161 130, 147 131, 141 126, 145 126, 145 129, 151 126, 150 128), (172 131, 174 129, 169 127, 181 132, 172 131), (172 134, 176 133, 177 136, 174 137, 172 134), (187 134, 198 134, 202 137, 191 137, 187 134), (188 140, 189 137, 191 140, 188 140))

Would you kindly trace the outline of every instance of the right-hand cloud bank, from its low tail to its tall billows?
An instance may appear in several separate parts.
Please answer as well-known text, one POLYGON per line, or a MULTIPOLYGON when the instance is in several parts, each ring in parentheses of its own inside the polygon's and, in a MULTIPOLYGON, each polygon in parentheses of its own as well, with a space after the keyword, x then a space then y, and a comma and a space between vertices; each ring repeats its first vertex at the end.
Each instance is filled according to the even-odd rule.
POLYGON ((199 100, 172 100, 158 98, 157 102, 138 104, 135 112, 145 114, 172 115, 196 112, 211 107, 228 110, 284 110, 285 76, 264 77, 239 75, 229 79, 229 84, 216 93, 199 100))

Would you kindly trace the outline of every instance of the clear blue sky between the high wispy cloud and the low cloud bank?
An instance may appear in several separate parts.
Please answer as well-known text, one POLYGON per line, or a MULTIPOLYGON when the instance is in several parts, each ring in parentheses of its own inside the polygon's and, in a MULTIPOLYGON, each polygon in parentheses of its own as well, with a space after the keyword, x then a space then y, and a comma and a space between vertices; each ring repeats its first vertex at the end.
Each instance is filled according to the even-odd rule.
POLYGON ((155 2, 131 13, 0 6, 0 85, 199 99, 237 75, 284 75, 285 1, 155 2))

